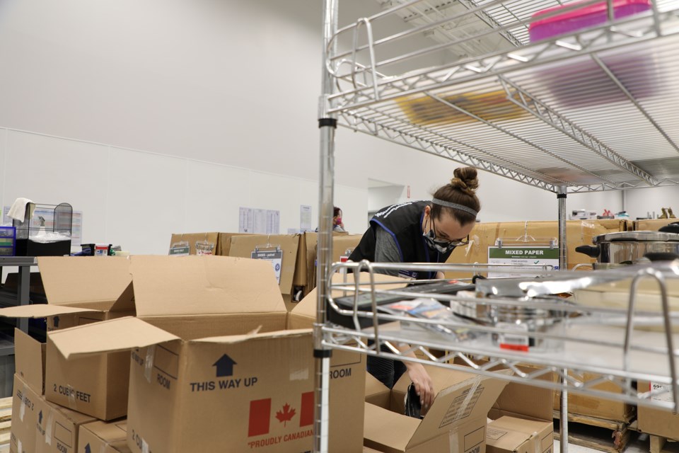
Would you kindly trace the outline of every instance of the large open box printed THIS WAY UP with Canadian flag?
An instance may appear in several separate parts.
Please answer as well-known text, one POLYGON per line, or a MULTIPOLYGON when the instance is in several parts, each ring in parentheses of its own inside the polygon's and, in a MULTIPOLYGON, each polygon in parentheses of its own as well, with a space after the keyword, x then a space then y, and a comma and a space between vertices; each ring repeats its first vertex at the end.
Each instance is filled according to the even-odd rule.
MULTIPOLYGON (((66 359, 134 350, 127 416, 133 452, 311 449, 311 331, 282 330, 287 312, 269 263, 133 256, 130 270, 137 318, 49 336, 66 359)), ((365 365, 342 365, 330 376, 331 388, 346 385, 341 395, 330 393, 330 449, 360 452, 362 411, 342 410, 363 403, 365 365)))

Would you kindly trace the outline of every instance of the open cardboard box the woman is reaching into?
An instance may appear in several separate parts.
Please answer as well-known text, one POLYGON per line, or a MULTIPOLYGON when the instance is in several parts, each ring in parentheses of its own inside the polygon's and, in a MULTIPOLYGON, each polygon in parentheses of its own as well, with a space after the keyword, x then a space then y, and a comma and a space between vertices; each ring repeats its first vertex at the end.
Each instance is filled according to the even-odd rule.
POLYGON ((485 452, 486 414, 506 382, 441 369, 422 420, 366 405, 364 445, 381 452, 485 452))

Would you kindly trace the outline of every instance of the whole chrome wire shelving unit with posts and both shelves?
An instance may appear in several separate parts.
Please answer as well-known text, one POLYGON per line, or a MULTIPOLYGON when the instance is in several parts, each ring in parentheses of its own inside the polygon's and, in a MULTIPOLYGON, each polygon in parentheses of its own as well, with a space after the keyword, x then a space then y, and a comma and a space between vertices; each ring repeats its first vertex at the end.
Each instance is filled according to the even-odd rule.
MULTIPOLYGON (((330 309, 326 304, 332 301, 329 276, 337 270, 337 265, 333 267, 330 263, 337 125, 557 194, 562 269, 567 262, 565 198, 569 193, 679 183, 679 115, 675 114, 679 105, 679 1, 649 1, 647 11, 625 17, 615 13, 614 6, 618 6, 615 0, 578 4, 558 0, 458 0, 440 4, 427 0, 379 1, 382 11, 356 18, 341 28, 337 25, 341 2, 324 3, 324 74, 319 111, 319 290, 314 332, 318 357, 315 451, 327 451, 330 351, 353 348, 364 354, 377 354, 379 348, 368 346, 368 340, 377 344, 407 341, 414 349, 451 351, 443 360, 429 357, 428 363, 444 367, 458 366, 448 363, 455 357, 458 361, 464 361, 468 355, 489 357, 491 365, 479 367, 468 362, 465 365, 471 367, 465 369, 484 374, 492 365, 504 365, 515 371, 508 379, 560 389, 562 413, 567 411, 567 391, 602 396, 593 389, 597 382, 574 379, 572 374, 576 372, 596 372, 604 381, 618 384, 620 394, 605 395, 607 398, 676 411, 679 398, 671 331, 674 319, 669 309, 661 311, 661 327, 666 334, 654 333, 659 335, 655 340, 661 340, 656 346, 630 343, 627 333, 633 330, 633 320, 639 314, 620 309, 615 315, 623 320, 622 327, 599 326, 608 332, 608 338, 588 338, 583 335, 582 326, 574 323, 561 338, 567 352, 552 357, 516 355, 487 344, 451 345, 424 330, 384 331, 377 322, 373 329, 341 328, 326 323, 325 311, 330 309), (562 5, 566 7, 564 11, 574 11, 596 4, 605 8, 605 19, 600 23, 530 41, 530 24, 538 20, 534 13, 552 6, 562 5), (394 17, 402 21, 402 30, 386 28, 393 24, 388 19, 394 17), (422 40, 423 35, 434 39, 422 40), (488 46, 480 46, 484 49, 481 55, 469 52, 474 50, 475 42, 491 41, 501 43, 491 51, 487 51, 488 46), (415 48, 412 43, 419 46, 417 50, 412 50, 415 48), (449 57, 445 58, 446 55, 449 57), (585 348, 579 350, 576 343, 582 342, 577 338, 588 338, 589 345, 584 344, 585 348), (354 340, 357 346, 344 345, 347 339, 354 340), (596 350, 591 345, 603 349, 596 350), (656 360, 663 364, 659 368, 644 365, 644 355, 652 354, 664 357, 656 360), (616 358, 598 365, 593 363, 595 360, 587 360, 602 355, 616 358), (518 363, 531 361, 547 371, 518 372, 518 363), (554 372, 559 380, 545 384, 544 379, 538 379, 544 372, 554 372), (631 386, 634 379, 668 384, 672 402, 660 401, 651 394, 637 394, 631 386)), ((556 13, 539 19, 550 14, 556 13)), ((364 265, 372 271, 380 266, 364 265)), ((604 271, 594 274, 600 272, 604 271)), ((667 305, 665 279, 672 281, 676 277, 674 271, 647 268, 639 273, 617 276, 655 280, 667 305)), ((361 290, 354 287, 354 291, 361 290)), ((368 292, 376 294, 376 289, 371 287, 368 292)), ((630 297, 634 299, 634 291, 630 297)), ((531 306, 536 302, 530 297, 519 303, 477 300, 480 306, 498 303, 531 306)), ((582 306, 574 310, 600 311, 597 307, 582 306)), ((396 316, 391 321, 402 320, 396 316)), ((492 327, 486 328, 486 332, 492 335, 492 327)), ((397 350, 381 354, 401 357, 397 350)), ((562 435, 567 439, 564 416, 562 435)), ((561 445, 565 452, 567 442, 561 445)))

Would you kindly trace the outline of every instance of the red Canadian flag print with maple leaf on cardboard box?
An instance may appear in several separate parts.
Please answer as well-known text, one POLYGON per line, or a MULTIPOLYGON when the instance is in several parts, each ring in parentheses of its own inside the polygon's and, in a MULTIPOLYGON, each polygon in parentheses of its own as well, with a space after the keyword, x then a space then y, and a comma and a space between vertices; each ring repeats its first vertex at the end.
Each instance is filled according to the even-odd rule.
MULTIPOLYGON (((269 434, 272 421, 283 423, 284 427, 296 425, 297 409, 289 403, 272 411, 271 398, 250 401, 248 437, 269 434)), ((313 391, 301 394, 299 401, 299 427, 313 425, 313 391)))

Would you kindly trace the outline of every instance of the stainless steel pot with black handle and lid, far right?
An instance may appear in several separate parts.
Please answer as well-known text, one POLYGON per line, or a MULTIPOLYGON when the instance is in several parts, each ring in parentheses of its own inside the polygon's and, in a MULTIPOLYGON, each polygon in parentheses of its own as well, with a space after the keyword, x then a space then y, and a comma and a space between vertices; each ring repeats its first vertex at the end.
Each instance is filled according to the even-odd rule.
POLYGON ((594 246, 575 250, 597 263, 634 264, 644 260, 671 260, 679 256, 679 234, 665 231, 620 231, 592 238, 594 246))

